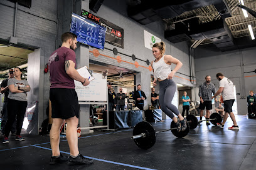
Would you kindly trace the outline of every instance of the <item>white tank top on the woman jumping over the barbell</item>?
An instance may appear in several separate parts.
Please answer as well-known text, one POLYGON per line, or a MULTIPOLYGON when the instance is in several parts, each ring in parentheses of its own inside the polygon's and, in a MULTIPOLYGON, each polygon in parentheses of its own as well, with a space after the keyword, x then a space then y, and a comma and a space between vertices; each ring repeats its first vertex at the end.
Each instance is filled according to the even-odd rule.
MULTIPOLYGON (((165 55, 164 55, 165 56, 165 55)), ((171 73, 171 65, 164 62, 164 56, 157 62, 153 62, 154 78, 164 80, 171 73)))

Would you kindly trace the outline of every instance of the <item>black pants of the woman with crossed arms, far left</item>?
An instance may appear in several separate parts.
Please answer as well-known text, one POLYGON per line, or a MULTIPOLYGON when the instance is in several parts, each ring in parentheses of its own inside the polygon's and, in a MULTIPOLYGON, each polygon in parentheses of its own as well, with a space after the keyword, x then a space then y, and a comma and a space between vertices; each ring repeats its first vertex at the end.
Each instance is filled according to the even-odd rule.
POLYGON ((26 107, 28 106, 27 101, 17 101, 13 99, 8 99, 8 119, 6 127, 4 129, 4 136, 8 137, 11 131, 11 126, 13 125, 15 119, 17 119, 16 124, 16 134, 21 134, 21 128, 23 125, 24 115, 26 113, 26 107))

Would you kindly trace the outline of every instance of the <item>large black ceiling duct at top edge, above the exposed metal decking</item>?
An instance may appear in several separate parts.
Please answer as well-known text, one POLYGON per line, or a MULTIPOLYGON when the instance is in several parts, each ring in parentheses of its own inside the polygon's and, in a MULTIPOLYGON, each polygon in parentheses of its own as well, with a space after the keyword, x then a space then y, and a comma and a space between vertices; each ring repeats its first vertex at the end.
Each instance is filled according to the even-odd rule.
POLYGON ((191 11, 213 4, 222 19, 231 16, 230 9, 222 0, 131 0, 128 1, 128 15, 135 21, 145 25, 160 19, 179 16, 185 11, 191 11))

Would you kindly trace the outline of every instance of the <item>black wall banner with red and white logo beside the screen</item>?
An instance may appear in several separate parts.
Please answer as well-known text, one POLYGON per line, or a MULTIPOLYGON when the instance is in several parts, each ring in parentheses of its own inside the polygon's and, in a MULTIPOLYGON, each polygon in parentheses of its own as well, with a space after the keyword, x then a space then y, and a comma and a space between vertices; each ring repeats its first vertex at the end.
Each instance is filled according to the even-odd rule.
POLYGON ((107 29, 105 34, 105 42, 124 48, 124 29, 122 29, 122 27, 119 27, 102 18, 100 18, 99 24, 107 29))

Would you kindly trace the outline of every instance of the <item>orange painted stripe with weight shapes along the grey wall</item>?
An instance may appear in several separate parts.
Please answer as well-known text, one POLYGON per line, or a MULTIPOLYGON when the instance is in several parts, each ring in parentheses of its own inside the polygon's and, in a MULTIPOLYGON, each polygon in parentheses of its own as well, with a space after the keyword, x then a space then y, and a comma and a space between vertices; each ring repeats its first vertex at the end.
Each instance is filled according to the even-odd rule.
MULTIPOLYGON (((99 53, 99 50, 97 50, 97 49, 93 49, 93 51, 89 51, 89 52, 92 53, 93 56, 95 56, 96 58, 99 57, 99 55, 100 55, 100 56, 104 56, 104 57, 106 57, 106 58, 115 59, 115 60, 117 60, 118 63, 124 62, 124 63, 128 63, 128 64, 132 64, 132 65, 134 65, 136 68, 142 67, 142 68, 149 69, 149 71, 152 71, 152 67, 151 67, 151 66, 149 66, 148 68, 145 67, 145 66, 141 66, 141 65, 139 65, 139 64, 137 63, 137 61, 136 61, 135 63, 131 63, 131 62, 129 62, 129 61, 124 61, 124 60, 122 60, 122 59, 120 58, 120 56, 117 56, 117 58, 113 58, 113 57, 110 57, 110 56, 107 56, 107 55, 104 55, 104 54, 100 54, 100 53, 99 53)), ((174 76, 174 77, 180 78, 180 79, 185 79, 185 78, 181 78, 181 77, 179 77, 179 76, 174 76)), ((190 81, 189 79, 185 79, 185 80, 190 81)), ((195 81, 195 80, 191 80, 191 81, 195 81)))

